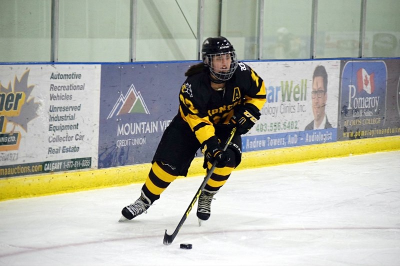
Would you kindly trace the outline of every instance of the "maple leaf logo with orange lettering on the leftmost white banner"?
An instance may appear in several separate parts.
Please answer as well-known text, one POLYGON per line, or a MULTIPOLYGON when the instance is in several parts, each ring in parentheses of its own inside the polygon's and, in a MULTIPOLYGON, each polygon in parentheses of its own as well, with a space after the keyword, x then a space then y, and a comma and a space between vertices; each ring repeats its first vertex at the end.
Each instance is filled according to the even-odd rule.
POLYGON ((39 103, 34 97, 29 97, 33 85, 28 86, 29 70, 25 71, 20 80, 15 77, 14 85, 8 82, 7 87, 0 82, 0 151, 17 150, 21 140, 20 127, 27 132, 27 123, 36 118, 39 103))

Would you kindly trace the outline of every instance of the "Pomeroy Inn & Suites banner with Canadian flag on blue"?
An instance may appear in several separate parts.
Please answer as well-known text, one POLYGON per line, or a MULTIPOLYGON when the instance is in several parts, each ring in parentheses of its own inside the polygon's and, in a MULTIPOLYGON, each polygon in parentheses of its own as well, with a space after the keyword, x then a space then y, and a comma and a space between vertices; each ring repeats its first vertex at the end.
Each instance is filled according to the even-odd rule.
POLYGON ((341 63, 338 140, 398 135, 399 59, 341 63))

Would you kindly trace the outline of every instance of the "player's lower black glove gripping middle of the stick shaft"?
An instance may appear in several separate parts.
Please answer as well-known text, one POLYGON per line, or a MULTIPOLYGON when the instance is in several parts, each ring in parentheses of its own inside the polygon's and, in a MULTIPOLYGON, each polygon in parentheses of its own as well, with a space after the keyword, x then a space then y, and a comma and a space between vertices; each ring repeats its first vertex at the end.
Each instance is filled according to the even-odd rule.
POLYGON ((211 164, 217 161, 216 167, 219 168, 224 167, 230 161, 229 154, 222 150, 216 136, 212 136, 203 142, 201 153, 204 154, 205 159, 211 164))

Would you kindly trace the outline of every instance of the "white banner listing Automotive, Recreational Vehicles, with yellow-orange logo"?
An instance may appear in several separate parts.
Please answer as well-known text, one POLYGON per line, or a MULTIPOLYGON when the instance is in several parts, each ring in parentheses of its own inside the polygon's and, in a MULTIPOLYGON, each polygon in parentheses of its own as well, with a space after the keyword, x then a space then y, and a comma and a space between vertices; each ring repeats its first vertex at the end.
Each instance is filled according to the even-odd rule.
POLYGON ((0 65, 0 178, 92 168, 100 65, 0 65))

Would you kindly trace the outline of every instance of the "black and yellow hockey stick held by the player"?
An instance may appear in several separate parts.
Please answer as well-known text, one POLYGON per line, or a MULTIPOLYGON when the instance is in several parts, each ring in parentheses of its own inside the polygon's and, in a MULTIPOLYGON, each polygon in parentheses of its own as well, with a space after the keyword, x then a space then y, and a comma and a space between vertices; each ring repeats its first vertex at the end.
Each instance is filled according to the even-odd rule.
MULTIPOLYGON (((225 147, 223 147, 223 150, 224 150, 224 151, 226 151, 226 148, 228 147, 230 141, 232 140, 232 138, 233 138, 235 132, 236 132, 236 128, 234 127, 234 128, 232 129, 232 131, 230 132, 229 138, 226 140, 225 147)), ((212 164, 212 166, 211 166, 211 168, 209 169, 207 175, 204 177, 203 182, 201 183, 200 187, 198 188, 198 190, 197 190, 197 192, 196 192, 196 195, 195 195, 194 198, 191 200, 191 202, 190 202, 190 204, 189 204, 189 207, 187 207, 186 212, 185 212, 184 215, 182 216, 182 219, 180 219, 180 221, 179 221, 178 225, 176 226, 175 231, 173 231, 172 235, 168 235, 168 234, 166 233, 166 230, 165 230, 164 241, 163 241, 164 245, 171 245, 172 241, 175 239, 175 237, 176 237, 176 235, 178 234, 180 228, 182 227, 184 221, 186 221, 187 216, 189 215, 191 209, 193 208, 194 204, 196 203, 198 197, 200 196, 201 191, 202 191, 203 188, 205 187, 205 184, 207 184, 208 179, 210 178, 210 176, 211 176, 212 173, 214 172, 214 169, 215 169, 217 163, 218 163, 218 162, 215 161, 215 162, 212 164)))

